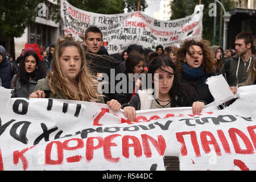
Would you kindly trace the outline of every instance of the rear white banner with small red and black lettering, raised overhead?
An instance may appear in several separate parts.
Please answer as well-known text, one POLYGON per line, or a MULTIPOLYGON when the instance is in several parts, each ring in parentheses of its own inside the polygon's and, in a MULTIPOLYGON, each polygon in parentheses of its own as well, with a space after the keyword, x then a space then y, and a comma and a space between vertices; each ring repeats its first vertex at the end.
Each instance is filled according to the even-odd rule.
POLYGON ((179 46, 188 38, 200 39, 203 31, 203 9, 204 5, 196 5, 192 15, 162 21, 141 11, 113 15, 91 13, 77 9, 67 1, 61 1, 61 18, 65 35, 72 34, 80 41, 88 27, 99 27, 108 52, 117 53, 130 44, 138 44, 144 48, 159 44, 167 47, 179 46))

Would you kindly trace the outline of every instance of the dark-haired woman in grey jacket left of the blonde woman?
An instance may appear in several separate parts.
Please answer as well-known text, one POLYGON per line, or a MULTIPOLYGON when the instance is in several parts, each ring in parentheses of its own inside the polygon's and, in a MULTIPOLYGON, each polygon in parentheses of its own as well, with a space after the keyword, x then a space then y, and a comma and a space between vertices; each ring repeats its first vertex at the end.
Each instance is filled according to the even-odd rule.
POLYGON ((20 61, 18 75, 11 81, 11 97, 26 97, 33 92, 39 79, 46 77, 46 70, 35 51, 27 51, 20 61))

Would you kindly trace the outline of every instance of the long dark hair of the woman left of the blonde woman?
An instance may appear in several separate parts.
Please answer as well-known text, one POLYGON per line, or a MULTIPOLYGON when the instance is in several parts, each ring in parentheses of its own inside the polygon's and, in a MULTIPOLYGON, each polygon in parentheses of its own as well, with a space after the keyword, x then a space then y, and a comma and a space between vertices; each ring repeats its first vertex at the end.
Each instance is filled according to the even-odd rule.
POLYGON ((19 73, 18 73, 19 81, 23 84, 27 84, 32 78, 32 80, 38 81, 39 79, 46 77, 46 69, 42 65, 42 61, 40 60, 38 54, 35 51, 27 51, 26 54, 23 56, 20 65, 19 65, 19 73), (26 72, 25 69, 25 60, 28 56, 35 57, 36 60, 36 69, 32 73, 26 72))

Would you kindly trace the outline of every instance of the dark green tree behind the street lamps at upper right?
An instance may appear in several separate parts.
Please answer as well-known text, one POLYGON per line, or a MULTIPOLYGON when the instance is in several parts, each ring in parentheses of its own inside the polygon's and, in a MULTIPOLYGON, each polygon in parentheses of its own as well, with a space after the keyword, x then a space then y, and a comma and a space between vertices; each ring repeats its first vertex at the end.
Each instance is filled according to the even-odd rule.
MULTIPOLYGON (((209 16, 209 3, 213 3, 214 0, 202 0, 202 4, 204 5, 203 11, 203 39, 209 40, 211 44, 213 44, 213 23, 214 17, 209 16)), ((172 2, 171 10, 172 16, 171 19, 179 19, 184 18, 185 16, 191 15, 195 9, 195 6, 199 4, 198 0, 177 0, 172 2)), ((217 17, 216 17, 216 45, 219 44, 219 34, 220 34, 220 11, 221 6, 217 4, 217 17)), ((234 7, 234 2, 232 0, 223 0, 222 3, 225 7, 226 11, 229 11, 234 7)), ((224 13, 223 13, 224 14, 224 13)), ((222 20, 223 23, 223 20, 222 20)), ((222 25, 223 28, 223 25, 222 25)), ((222 33, 223 35, 223 33, 222 33)))

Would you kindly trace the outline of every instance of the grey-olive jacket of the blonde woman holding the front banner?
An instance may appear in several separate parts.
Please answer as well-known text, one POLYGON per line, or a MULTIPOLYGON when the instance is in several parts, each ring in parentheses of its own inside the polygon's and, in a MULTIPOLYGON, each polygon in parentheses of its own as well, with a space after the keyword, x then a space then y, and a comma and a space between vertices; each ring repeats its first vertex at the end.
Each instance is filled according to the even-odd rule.
MULTIPOLYGON (((42 78, 42 79, 38 80, 38 84, 35 86, 34 92, 36 90, 43 90, 43 91, 48 92, 49 98, 65 99, 64 96, 60 93, 57 93, 56 95, 53 96, 51 90, 49 89, 48 81, 46 78, 42 78)), ((100 96, 100 100, 97 102, 104 103, 104 98, 100 96)))

